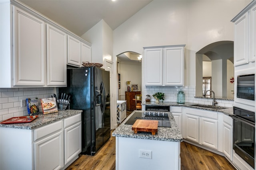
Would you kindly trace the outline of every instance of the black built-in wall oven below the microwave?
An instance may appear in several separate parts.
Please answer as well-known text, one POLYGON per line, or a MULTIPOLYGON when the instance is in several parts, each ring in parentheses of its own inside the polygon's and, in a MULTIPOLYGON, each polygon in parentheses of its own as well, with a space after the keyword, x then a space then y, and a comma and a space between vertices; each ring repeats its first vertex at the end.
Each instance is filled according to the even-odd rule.
POLYGON ((255 114, 252 111, 233 107, 233 149, 254 168, 255 114))

